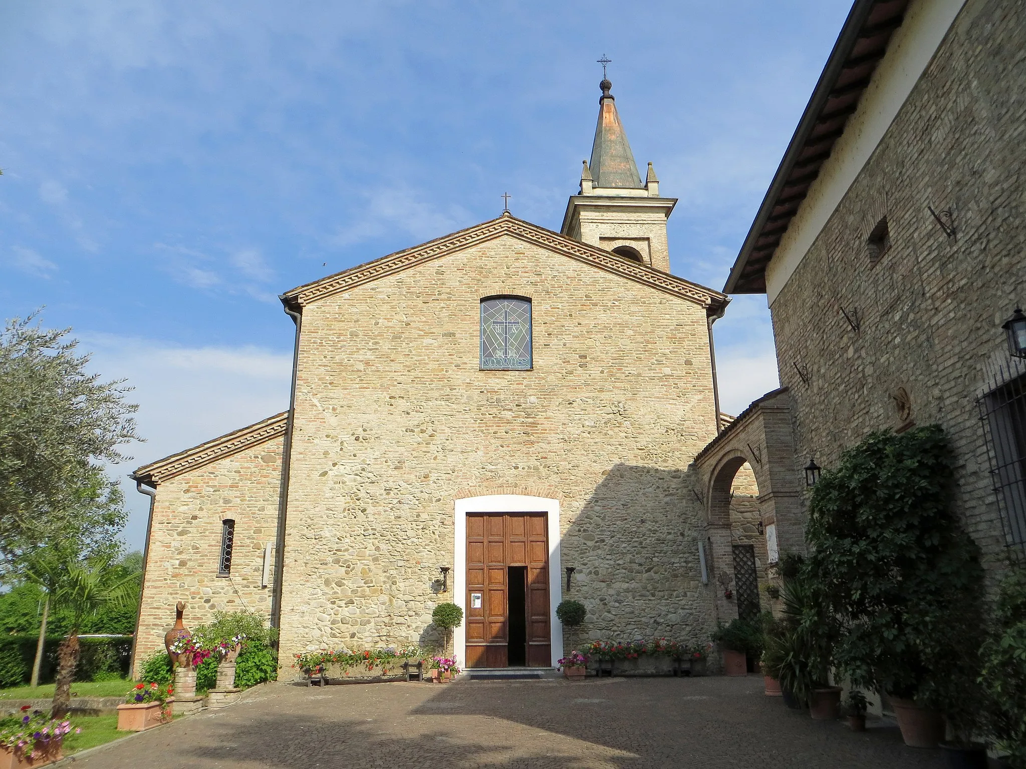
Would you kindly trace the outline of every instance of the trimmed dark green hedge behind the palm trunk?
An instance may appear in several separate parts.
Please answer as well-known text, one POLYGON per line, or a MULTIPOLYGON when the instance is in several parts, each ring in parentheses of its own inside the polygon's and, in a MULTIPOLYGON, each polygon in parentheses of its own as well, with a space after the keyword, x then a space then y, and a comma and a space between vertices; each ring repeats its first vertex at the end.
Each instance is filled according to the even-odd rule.
MULTIPOLYGON (((53 681, 57 669, 57 647, 63 638, 47 637, 43 646, 43 660, 39 671, 39 682, 53 681)), ((91 681, 102 674, 128 676, 128 660, 131 656, 131 636, 115 638, 79 637, 81 651, 77 681, 91 681)), ((36 658, 38 636, 0 636, 0 688, 22 686, 32 678, 32 663, 36 658)))

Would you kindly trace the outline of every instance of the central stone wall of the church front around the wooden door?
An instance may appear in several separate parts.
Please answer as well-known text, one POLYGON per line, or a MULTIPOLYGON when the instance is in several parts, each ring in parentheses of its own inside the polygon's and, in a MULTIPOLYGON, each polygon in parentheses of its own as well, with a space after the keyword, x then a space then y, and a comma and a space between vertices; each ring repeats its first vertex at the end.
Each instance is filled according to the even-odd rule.
POLYGON ((428 640, 466 489, 554 490, 588 637, 707 637, 714 435, 704 309, 510 236, 304 308, 282 659, 428 640), (531 297, 534 370, 479 370, 492 294, 531 297))

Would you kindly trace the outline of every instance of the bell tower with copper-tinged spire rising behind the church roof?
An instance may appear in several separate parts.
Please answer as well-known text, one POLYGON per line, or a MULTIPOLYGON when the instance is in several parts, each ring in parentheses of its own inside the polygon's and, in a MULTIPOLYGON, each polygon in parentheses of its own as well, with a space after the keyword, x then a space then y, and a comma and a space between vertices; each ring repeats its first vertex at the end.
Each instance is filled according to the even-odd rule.
POLYGON ((581 191, 570 197, 560 232, 664 273, 670 272, 666 220, 676 198, 659 196, 659 179, 648 164, 644 181, 620 122, 613 83, 599 83, 598 125, 591 162, 584 161, 581 191))

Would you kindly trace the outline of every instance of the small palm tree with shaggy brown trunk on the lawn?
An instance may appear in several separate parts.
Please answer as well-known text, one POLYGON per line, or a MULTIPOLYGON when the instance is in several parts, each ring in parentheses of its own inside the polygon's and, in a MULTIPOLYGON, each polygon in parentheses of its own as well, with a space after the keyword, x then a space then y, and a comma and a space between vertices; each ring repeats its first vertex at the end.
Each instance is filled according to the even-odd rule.
POLYGON ((68 638, 57 648, 57 679, 53 692, 52 718, 63 718, 71 703, 71 684, 78 666, 78 630, 90 614, 108 606, 120 607, 135 598, 139 590, 137 575, 125 575, 121 569, 112 568, 110 556, 98 556, 87 561, 69 561, 65 578, 54 595, 54 603, 71 619, 68 638))

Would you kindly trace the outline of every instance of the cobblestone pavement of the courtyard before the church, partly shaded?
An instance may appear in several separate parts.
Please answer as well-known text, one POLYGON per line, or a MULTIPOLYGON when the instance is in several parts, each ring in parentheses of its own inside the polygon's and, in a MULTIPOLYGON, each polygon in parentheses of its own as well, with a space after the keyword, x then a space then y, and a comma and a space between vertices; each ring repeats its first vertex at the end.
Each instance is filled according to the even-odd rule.
POLYGON ((864 734, 762 694, 762 680, 270 684, 74 762, 76 769, 940 767, 893 724, 864 734))

